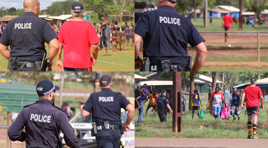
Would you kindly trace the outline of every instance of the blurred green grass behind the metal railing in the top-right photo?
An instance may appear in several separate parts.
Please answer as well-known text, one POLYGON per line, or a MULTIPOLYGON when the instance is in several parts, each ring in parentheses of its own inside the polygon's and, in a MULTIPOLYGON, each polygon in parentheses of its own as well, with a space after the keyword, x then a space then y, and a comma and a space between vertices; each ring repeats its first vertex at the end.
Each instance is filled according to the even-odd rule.
MULTIPOLYGON (((208 19, 207 28, 204 28, 203 18, 197 18, 196 21, 194 21, 194 18, 191 18, 191 21, 194 24, 194 26, 196 26, 196 29, 198 31, 224 31, 224 28, 222 28, 222 18, 213 18, 212 23, 210 23, 208 19)), ((255 24, 255 27, 250 27, 250 25, 244 23, 242 31, 267 31, 267 30, 268 30, 267 24, 263 25, 255 24)), ((231 31, 239 31, 239 22, 237 22, 237 24, 235 24, 234 22, 234 28, 231 28, 231 31)))

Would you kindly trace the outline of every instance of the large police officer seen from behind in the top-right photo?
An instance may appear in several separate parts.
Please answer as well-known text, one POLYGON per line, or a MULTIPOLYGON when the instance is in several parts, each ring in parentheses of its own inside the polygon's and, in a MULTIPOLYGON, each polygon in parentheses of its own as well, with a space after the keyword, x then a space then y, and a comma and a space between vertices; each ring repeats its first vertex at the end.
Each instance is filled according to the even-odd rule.
POLYGON ((158 0, 157 9, 144 12, 135 28, 135 69, 143 65, 139 58, 143 40, 143 57, 149 57, 150 70, 164 71, 171 63, 170 71, 187 71, 188 43, 197 54, 192 71, 199 71, 206 59, 205 40, 191 21, 176 13, 177 0, 158 0), (161 61, 162 60, 162 61, 161 61), (170 60, 170 61, 169 61, 170 60))

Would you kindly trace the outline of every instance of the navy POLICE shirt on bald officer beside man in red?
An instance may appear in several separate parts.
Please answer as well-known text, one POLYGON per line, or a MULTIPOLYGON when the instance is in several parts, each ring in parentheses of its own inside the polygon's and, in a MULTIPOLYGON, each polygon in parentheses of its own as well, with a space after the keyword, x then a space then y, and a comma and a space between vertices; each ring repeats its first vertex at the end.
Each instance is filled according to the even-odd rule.
POLYGON ((12 19, 3 32, 0 43, 11 48, 11 57, 19 61, 42 61, 46 53, 44 43, 57 38, 47 20, 36 17, 33 12, 25 12, 12 19))

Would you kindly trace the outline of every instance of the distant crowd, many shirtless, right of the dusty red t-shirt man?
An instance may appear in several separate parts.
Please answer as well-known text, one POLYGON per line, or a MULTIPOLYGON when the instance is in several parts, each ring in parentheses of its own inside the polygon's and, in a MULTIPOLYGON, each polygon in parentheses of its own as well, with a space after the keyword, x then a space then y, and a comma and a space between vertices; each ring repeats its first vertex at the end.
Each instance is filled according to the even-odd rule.
POLYGON ((125 22, 124 26, 121 26, 121 28, 118 25, 118 21, 115 20, 113 23, 105 22, 102 24, 100 22, 99 25, 96 25, 96 23, 93 23, 93 27, 100 39, 100 46, 99 50, 105 47, 106 50, 106 56, 109 56, 107 54, 107 50, 110 50, 110 45, 112 45, 113 52, 117 49, 117 45, 119 45, 119 50, 122 49, 125 50, 125 43, 127 46, 130 45, 129 41, 130 38, 132 38, 132 45, 131 49, 133 47, 134 43, 134 34, 135 34, 135 27, 133 23, 130 23, 130 27, 125 22), (123 46, 123 47, 122 47, 123 46))

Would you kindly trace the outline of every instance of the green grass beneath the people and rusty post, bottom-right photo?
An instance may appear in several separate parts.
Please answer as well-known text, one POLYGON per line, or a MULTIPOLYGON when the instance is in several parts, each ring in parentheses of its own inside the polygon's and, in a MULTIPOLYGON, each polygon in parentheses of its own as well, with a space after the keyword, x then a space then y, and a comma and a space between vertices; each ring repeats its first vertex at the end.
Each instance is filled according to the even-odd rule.
MULTIPOLYGON (((188 104, 189 100, 186 100, 188 104)), ((145 109, 148 105, 145 103, 145 109)), ((203 104, 204 105, 204 104, 203 104)), ((205 104, 206 105, 206 104, 205 104)), ((247 138, 247 117, 245 117, 245 110, 241 111, 240 121, 236 119, 233 121, 233 117, 230 120, 215 120, 213 116, 210 116, 206 106, 203 107, 205 118, 198 121, 197 111, 194 113, 194 119, 192 119, 192 111, 188 111, 188 106, 184 115, 182 115, 182 133, 172 132, 172 115, 167 115, 167 123, 160 123, 157 113, 151 112, 152 108, 148 110, 148 114, 143 114, 143 122, 135 123, 135 137, 161 137, 161 138, 247 138), (205 127, 206 124, 216 123, 218 127, 205 127)), ((264 109, 260 109, 258 118, 257 136, 259 139, 268 138, 268 116, 266 112, 266 106, 268 102, 264 104, 264 109)), ((135 110, 135 122, 139 117, 138 110, 135 110)), ((237 116, 236 116, 237 118, 237 116)))

